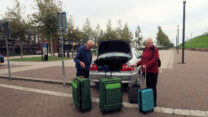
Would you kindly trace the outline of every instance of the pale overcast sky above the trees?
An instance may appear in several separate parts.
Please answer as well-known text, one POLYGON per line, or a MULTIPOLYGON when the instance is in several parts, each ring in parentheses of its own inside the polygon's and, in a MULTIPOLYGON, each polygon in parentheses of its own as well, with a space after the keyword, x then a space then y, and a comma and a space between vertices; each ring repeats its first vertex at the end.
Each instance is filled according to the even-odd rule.
MULTIPOLYGON (((14 0, 0 0, 0 14, 12 7, 14 0), (2 4, 3 3, 3 4, 2 4)), ((34 12, 34 0, 20 0, 26 14, 34 12)), ((134 33, 140 25, 144 38, 156 38, 157 27, 161 26, 170 40, 175 43, 177 25, 182 39, 183 0, 62 0, 63 10, 71 15, 76 26, 82 28, 86 18, 93 28, 99 23, 104 29, 111 19, 113 27, 120 19, 128 23, 134 33)), ((208 0, 187 0, 186 39, 208 32, 208 0)), ((1 16, 0 16, 1 18, 1 16)), ((181 42, 181 41, 180 41, 181 42)))

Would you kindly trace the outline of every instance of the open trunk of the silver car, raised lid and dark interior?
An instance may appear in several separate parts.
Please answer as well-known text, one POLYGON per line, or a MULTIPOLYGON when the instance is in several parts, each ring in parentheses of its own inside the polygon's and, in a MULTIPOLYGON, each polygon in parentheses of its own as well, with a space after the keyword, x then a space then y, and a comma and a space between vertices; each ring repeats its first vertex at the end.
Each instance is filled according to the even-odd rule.
POLYGON ((98 57, 95 64, 97 64, 98 70, 103 70, 103 66, 108 66, 109 71, 120 71, 122 65, 131 58, 130 45, 125 41, 103 41, 98 47, 98 57))

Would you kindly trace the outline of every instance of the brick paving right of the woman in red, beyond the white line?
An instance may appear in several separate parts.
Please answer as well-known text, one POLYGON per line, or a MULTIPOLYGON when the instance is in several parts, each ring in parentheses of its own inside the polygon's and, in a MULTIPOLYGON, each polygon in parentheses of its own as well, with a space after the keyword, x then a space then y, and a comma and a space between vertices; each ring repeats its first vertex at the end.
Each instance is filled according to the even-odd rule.
POLYGON ((176 54, 173 69, 164 69, 158 80, 158 106, 208 110, 208 53, 176 54))

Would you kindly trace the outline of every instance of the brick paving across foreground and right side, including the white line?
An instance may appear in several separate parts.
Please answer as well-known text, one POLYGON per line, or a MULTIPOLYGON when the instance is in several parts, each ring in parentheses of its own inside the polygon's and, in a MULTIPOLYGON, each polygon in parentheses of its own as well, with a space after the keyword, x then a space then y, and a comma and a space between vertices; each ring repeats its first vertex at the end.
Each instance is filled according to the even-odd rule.
MULTIPOLYGON (((128 103, 124 89, 122 111, 105 116, 208 117, 208 53, 185 51, 186 64, 178 64, 181 53, 170 52, 171 56, 160 54, 162 72, 158 80, 158 107, 154 113, 139 113, 136 104, 128 103)), ((52 71, 45 73, 49 75, 52 71)), ((71 91, 70 85, 63 87, 59 84, 0 79, 0 117, 103 116, 99 110, 97 87, 91 87, 93 109, 87 113, 77 111, 71 91)))

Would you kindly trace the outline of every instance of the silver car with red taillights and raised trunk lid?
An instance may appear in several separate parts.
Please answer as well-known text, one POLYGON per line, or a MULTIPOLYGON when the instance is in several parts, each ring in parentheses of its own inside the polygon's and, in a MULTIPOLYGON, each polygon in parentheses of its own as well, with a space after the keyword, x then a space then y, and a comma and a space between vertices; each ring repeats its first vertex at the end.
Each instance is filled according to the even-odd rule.
MULTIPOLYGON (((100 61, 100 64, 109 62, 110 64, 108 65, 125 63, 121 66, 119 64, 113 65, 114 68, 112 68, 112 76, 119 77, 123 84, 133 83, 140 76, 140 68, 133 65, 141 60, 141 53, 129 45, 125 45, 119 41, 111 41, 103 45, 101 43, 98 47, 98 59, 101 57, 104 57, 104 59, 100 61), (131 56, 131 58, 125 61, 125 58, 128 58, 128 56, 131 56)), ((109 77, 111 76, 111 72, 105 73, 103 69, 100 69, 97 60, 95 60, 90 66, 90 80, 98 84, 99 79, 105 78, 105 75, 109 77)))

